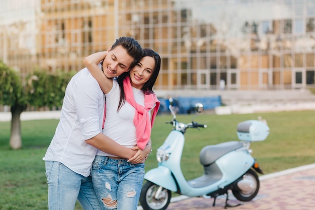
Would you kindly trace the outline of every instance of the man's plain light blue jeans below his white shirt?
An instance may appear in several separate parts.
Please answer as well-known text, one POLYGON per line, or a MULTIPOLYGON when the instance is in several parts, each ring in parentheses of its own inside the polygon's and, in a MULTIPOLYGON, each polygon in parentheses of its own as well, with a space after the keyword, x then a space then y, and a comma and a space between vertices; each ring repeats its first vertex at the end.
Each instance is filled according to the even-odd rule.
POLYGON ((72 210, 76 199, 85 210, 101 210, 91 176, 85 177, 60 162, 45 161, 49 210, 72 210))

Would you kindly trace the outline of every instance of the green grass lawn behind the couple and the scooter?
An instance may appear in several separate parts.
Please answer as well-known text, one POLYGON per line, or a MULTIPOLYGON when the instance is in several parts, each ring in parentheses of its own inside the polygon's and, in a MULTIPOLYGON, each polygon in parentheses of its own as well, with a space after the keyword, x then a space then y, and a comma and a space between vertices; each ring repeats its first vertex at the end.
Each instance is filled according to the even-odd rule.
MULTIPOLYGON (((186 179, 202 174, 199 152, 211 144, 237 140, 237 124, 244 120, 267 120, 270 134, 266 141, 251 145, 253 156, 265 174, 315 163, 315 111, 292 111, 261 114, 214 115, 200 114, 194 121, 207 124, 207 128, 188 129, 182 157, 182 171, 186 179)), ((178 115, 182 122, 190 122, 193 115, 178 115)), ((145 170, 155 168, 156 149, 161 146, 172 129, 170 115, 159 115, 152 130, 153 152, 146 161, 145 170)), ((32 120, 22 122, 23 148, 9 147, 10 122, 0 122, 0 209, 43 210, 47 207, 47 180, 42 160, 51 141, 58 120, 32 120)), ((77 204, 76 210, 82 209, 77 204)))

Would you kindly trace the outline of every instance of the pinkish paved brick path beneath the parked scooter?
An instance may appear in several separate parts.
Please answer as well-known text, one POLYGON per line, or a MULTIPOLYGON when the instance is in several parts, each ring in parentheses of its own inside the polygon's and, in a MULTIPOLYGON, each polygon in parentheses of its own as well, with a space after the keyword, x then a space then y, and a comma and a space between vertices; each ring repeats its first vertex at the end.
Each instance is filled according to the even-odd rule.
MULTIPOLYGON (((260 177, 260 190, 254 200, 240 202, 229 195, 231 210, 314 210, 315 209, 315 164, 297 167, 260 177)), ((222 210, 225 196, 213 198, 188 198, 172 202, 167 210, 222 210)), ((138 209, 141 209, 139 207, 138 209)))

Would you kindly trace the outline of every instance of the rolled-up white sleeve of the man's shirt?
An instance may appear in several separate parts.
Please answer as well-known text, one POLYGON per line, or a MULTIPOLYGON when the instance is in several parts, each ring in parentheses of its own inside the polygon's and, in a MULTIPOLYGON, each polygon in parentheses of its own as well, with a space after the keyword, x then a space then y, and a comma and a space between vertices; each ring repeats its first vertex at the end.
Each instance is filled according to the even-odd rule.
MULTIPOLYGON (((100 133, 100 103, 104 102, 104 95, 93 77, 82 78, 77 81, 73 91, 73 100, 82 137, 87 140, 100 133)), ((104 105, 103 105, 104 106, 104 105)))

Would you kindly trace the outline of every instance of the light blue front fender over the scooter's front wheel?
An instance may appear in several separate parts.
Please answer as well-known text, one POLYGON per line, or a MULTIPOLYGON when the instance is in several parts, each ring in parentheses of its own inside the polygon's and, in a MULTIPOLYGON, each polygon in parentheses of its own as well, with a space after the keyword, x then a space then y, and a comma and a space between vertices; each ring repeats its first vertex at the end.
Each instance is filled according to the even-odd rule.
POLYGON ((170 169, 164 166, 151 169, 145 173, 144 179, 168 190, 177 191, 175 180, 170 169))

